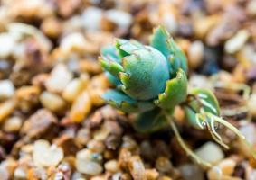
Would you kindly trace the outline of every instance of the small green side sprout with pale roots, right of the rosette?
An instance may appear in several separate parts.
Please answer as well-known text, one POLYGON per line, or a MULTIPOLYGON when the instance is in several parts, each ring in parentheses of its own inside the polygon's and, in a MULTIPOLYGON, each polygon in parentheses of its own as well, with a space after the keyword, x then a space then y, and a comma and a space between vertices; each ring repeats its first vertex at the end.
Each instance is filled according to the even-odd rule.
MULTIPOLYGON (((245 145, 251 148, 251 145, 244 138, 242 133, 237 130, 231 123, 223 120, 219 117, 220 108, 214 94, 207 89, 194 89, 188 96, 188 101, 184 105, 185 114, 187 120, 198 129, 207 128, 213 137, 213 139, 219 143, 223 148, 229 149, 229 147, 224 144, 222 137, 216 132, 215 124, 223 124, 226 128, 232 130, 245 145)), ((254 150, 251 148, 252 156, 256 158, 254 150)))

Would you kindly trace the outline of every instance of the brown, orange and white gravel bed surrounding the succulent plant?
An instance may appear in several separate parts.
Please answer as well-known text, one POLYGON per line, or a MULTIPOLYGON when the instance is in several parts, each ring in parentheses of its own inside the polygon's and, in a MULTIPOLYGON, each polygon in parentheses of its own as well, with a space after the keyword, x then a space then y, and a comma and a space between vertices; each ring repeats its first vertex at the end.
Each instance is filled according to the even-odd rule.
POLYGON ((205 170, 170 131, 137 134, 104 105, 100 49, 115 38, 147 44, 159 24, 186 54, 189 86, 213 90, 255 147, 255 0, 2 0, 0 180, 255 180, 255 160, 229 130, 219 130, 224 151, 175 110, 189 146, 223 173, 205 170))

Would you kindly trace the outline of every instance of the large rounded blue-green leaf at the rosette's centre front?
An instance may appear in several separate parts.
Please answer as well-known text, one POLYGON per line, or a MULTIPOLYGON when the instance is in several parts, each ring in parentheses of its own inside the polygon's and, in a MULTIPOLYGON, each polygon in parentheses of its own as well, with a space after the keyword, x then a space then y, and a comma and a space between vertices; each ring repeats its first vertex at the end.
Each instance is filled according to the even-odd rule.
POLYGON ((125 73, 119 73, 123 91, 137 100, 151 100, 164 92, 169 71, 166 58, 157 49, 137 49, 122 58, 125 73))

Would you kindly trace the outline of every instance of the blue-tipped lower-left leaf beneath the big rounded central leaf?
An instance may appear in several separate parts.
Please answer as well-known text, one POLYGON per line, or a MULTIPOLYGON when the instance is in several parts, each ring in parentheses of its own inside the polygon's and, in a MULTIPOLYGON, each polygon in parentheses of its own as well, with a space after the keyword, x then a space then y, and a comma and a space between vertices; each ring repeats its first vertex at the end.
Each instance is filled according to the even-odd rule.
POLYGON ((153 103, 138 102, 117 90, 107 91, 103 94, 102 98, 122 112, 146 112, 155 107, 153 103))

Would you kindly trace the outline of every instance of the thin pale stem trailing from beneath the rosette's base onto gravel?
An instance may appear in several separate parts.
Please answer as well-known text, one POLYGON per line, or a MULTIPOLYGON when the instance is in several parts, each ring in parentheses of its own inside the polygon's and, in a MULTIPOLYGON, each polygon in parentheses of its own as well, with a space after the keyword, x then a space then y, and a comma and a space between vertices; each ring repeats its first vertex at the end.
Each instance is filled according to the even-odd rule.
POLYGON ((203 166, 210 168, 212 166, 210 163, 206 162, 201 157, 198 157, 190 148, 188 148, 186 146, 184 139, 181 137, 179 131, 177 130, 174 119, 170 118, 170 116, 166 112, 165 112, 165 115, 166 115, 166 119, 170 122, 170 125, 175 132, 175 137, 176 137, 179 145, 181 146, 181 148, 183 148, 185 150, 185 153, 188 156, 192 157, 194 159, 194 161, 197 162, 199 165, 203 165, 203 166))

